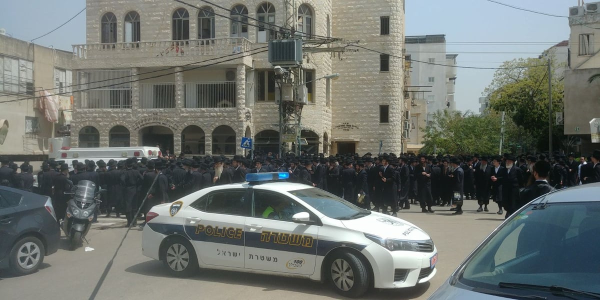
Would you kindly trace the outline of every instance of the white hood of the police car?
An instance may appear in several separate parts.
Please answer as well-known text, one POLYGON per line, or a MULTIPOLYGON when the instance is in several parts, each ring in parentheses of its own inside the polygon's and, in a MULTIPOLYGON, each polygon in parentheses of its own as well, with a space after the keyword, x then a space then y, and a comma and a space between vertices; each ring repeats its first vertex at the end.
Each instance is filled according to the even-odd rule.
POLYGON ((362 218, 341 221, 348 229, 358 230, 370 235, 391 239, 425 241, 430 236, 419 227, 391 215, 372 212, 362 218))

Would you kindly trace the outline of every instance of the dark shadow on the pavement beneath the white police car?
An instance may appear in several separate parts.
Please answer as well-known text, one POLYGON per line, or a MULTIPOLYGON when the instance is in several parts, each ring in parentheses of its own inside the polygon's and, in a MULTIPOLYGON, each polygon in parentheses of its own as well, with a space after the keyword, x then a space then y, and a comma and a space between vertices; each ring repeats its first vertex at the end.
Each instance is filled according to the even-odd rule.
MULTIPOLYGON (((170 277, 163 263, 157 260, 138 263, 137 265, 125 269, 125 272, 152 277, 170 277)), ((284 290, 289 292, 307 293, 310 295, 328 296, 335 299, 347 299, 335 293, 329 284, 322 284, 298 278, 278 277, 274 275, 251 274, 248 276, 248 273, 245 272, 201 269, 198 275, 190 278, 182 278, 181 280, 199 280, 214 283, 254 286, 262 288, 263 292, 284 290)), ((363 298, 414 299, 422 296, 427 292, 429 287, 430 283, 423 283, 416 287, 406 289, 373 289, 367 292, 363 298)))

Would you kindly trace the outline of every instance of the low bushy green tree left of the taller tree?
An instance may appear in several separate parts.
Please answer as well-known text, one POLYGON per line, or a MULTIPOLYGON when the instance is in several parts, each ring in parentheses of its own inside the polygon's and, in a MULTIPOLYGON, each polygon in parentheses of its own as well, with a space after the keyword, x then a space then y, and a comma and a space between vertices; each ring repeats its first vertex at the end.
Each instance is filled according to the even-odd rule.
MULTIPOLYGON (((439 110, 425 127, 421 152, 438 154, 496 154, 500 147, 501 118, 497 113, 475 115, 439 110)), ((506 134, 505 134, 506 137, 506 134)))

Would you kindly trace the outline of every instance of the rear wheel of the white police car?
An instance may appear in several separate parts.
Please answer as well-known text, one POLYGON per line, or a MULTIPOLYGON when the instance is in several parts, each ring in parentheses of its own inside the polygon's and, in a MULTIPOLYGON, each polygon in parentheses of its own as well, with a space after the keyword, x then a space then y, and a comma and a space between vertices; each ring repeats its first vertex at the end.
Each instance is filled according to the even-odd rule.
POLYGON ((167 242, 163 262, 170 274, 176 277, 190 277, 198 271, 194 248, 184 239, 176 238, 167 242))

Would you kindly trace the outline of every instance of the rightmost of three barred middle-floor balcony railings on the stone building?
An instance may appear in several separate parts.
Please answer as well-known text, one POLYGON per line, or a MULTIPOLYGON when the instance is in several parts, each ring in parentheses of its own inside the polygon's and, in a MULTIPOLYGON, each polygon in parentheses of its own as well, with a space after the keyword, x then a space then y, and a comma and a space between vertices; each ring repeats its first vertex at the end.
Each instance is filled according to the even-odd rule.
POLYGON ((237 82, 186 82, 184 108, 226 108, 238 104, 237 82))

